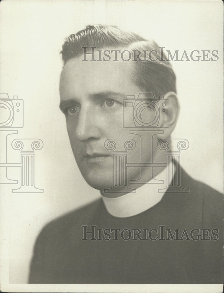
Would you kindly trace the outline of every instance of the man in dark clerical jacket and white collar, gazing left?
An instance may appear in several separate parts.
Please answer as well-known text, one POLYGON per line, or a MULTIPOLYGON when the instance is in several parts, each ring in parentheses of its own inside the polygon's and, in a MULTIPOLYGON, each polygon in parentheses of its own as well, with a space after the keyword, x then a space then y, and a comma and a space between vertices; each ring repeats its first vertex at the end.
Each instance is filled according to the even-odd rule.
POLYGON ((169 145, 179 103, 161 48, 95 25, 61 53, 72 151, 102 196, 44 227, 29 282, 222 283, 222 195, 187 175, 169 145))

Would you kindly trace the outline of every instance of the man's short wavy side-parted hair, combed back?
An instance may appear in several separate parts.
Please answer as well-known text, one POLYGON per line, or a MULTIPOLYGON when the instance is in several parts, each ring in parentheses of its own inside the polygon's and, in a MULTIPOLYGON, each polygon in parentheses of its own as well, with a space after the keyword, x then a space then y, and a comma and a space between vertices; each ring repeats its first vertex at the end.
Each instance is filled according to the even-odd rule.
MULTIPOLYGON (((132 53, 138 50, 143 54, 152 52, 152 58, 157 61, 140 61, 135 58, 134 72, 132 74, 133 82, 144 92, 152 92, 158 98, 169 91, 176 93, 176 76, 172 70, 169 61, 166 60, 165 54, 161 56, 161 49, 154 40, 146 40, 139 35, 131 32, 125 32, 113 25, 88 25, 84 30, 70 35, 65 39, 62 46, 62 60, 64 65, 69 59, 76 58, 83 54, 82 47, 96 47, 96 50, 102 48, 124 47, 132 53)), ((141 59, 142 59, 141 54, 141 59)), ((131 62, 132 59, 130 59, 131 62)))

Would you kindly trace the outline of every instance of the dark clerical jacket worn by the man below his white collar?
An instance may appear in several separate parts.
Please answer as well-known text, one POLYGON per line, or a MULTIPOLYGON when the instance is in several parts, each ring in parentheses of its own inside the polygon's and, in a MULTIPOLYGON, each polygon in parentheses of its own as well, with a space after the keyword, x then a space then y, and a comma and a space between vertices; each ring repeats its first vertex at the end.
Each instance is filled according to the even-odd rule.
POLYGON ((167 192, 133 217, 111 216, 100 199, 47 224, 35 243, 29 283, 223 283, 223 195, 182 169, 181 180, 189 193, 167 192), (131 239, 123 240, 126 230, 113 240, 115 232, 105 229, 129 229, 131 239), (141 239, 145 229, 147 240, 133 229, 141 239), (151 239, 150 229, 158 231, 151 230, 151 239), (111 239, 90 240, 108 239, 105 232, 111 239))

